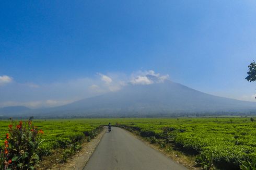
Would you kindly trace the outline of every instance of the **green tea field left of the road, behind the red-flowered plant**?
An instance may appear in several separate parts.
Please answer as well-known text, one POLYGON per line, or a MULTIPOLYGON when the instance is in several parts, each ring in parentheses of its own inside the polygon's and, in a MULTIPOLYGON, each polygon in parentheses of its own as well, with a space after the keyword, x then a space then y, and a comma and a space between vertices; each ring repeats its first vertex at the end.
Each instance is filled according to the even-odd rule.
MULTIPOLYGON (((4 144, 10 121, 2 120, 0 124, 0 146, 4 144)), ((90 119, 51 119, 34 120, 33 124, 42 129, 44 134, 40 155, 47 156, 54 149, 78 147, 81 142, 94 138, 101 130, 102 122, 90 119)))

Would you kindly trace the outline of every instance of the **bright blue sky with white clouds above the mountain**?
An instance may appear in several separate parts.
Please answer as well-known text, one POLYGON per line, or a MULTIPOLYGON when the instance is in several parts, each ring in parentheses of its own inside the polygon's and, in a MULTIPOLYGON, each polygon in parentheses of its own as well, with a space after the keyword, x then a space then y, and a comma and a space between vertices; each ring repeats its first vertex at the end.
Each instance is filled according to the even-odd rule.
POLYGON ((256 102, 256 1, 2 1, 0 107, 150 84, 256 102))

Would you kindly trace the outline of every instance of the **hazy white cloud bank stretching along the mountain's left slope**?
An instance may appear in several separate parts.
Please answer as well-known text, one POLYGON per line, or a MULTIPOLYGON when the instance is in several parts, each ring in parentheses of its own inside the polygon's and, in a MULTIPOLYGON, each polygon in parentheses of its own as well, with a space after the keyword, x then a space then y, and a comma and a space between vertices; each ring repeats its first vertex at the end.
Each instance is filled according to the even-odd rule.
POLYGON ((168 79, 168 75, 155 71, 136 71, 130 75, 121 72, 98 72, 92 77, 82 77, 55 82, 15 82, 9 76, 0 76, 0 107, 24 105, 28 107, 51 107, 70 103, 107 92, 119 91, 128 84, 152 84, 168 79))

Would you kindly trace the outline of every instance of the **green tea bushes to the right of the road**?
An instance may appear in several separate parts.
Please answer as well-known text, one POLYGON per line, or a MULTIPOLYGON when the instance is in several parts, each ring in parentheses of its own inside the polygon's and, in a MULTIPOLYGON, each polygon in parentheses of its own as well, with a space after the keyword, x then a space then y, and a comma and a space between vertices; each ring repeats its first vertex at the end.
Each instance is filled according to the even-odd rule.
POLYGON ((193 155, 203 169, 255 169, 254 118, 133 119, 117 126, 166 150, 193 155))

